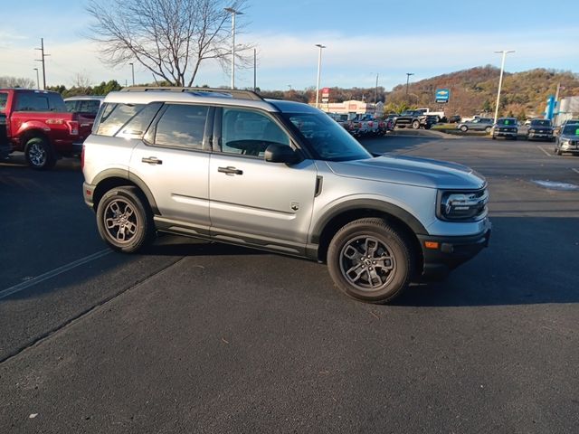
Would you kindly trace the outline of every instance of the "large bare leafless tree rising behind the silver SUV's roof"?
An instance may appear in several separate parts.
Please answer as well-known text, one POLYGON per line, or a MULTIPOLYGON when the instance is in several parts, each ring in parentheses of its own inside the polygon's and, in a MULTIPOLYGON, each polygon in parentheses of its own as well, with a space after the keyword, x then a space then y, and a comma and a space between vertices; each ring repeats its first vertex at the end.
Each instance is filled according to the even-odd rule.
MULTIPOLYGON (((203 61, 223 65, 231 56, 231 14, 224 7, 242 11, 244 5, 245 0, 90 0, 90 38, 100 43, 109 65, 134 61, 175 86, 192 86, 203 61)), ((242 64, 248 48, 235 46, 242 64)))

